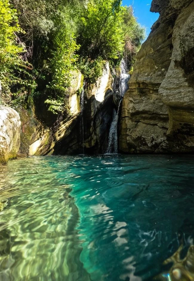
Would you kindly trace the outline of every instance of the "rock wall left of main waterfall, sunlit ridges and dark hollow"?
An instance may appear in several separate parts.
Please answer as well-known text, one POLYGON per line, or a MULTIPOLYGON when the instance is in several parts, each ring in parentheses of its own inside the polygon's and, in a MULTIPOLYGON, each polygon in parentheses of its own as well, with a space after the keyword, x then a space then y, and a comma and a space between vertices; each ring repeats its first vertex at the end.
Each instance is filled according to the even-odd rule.
MULTIPOLYGON (((67 114, 59 115, 54 122, 45 115, 47 112, 43 112, 41 118, 37 116, 39 121, 36 120, 36 126, 31 126, 33 132, 28 141, 25 141, 29 155, 106 152, 113 111, 117 111, 121 99, 119 94, 113 92, 112 84, 113 77, 108 62, 103 75, 93 85, 83 87, 83 76, 80 72, 75 72, 69 89, 67 114), (44 126, 40 119, 50 120, 50 126, 48 123, 44 126)), ((41 109, 38 111, 41 112, 41 109)), ((27 135, 26 130, 24 135, 27 135)))

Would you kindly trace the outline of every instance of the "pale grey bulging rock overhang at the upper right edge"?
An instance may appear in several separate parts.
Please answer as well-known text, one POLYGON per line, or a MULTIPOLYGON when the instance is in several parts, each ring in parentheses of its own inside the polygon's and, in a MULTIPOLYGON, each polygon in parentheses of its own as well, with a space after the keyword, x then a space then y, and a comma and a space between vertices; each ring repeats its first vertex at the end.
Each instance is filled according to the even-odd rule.
MULTIPOLYGON (((193 83, 185 73, 188 61, 182 59, 194 48, 194 1, 178 16, 173 29, 173 52, 170 67, 162 81, 159 94, 162 102, 177 108, 194 107, 194 77, 193 83)), ((194 54, 194 52, 193 52, 194 54)), ((189 59, 189 58, 188 58, 189 59)), ((192 59, 192 57, 190 58, 192 59)), ((193 59, 194 70, 194 59, 193 59)), ((188 72, 188 70, 186 70, 188 72)), ((191 71, 192 72, 192 71, 191 71)))

